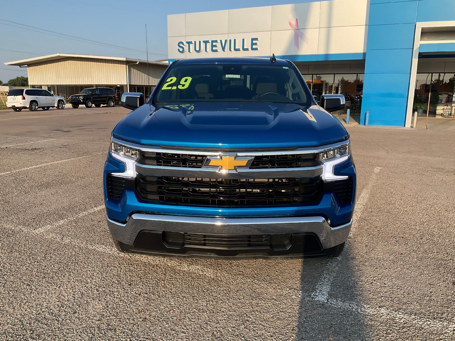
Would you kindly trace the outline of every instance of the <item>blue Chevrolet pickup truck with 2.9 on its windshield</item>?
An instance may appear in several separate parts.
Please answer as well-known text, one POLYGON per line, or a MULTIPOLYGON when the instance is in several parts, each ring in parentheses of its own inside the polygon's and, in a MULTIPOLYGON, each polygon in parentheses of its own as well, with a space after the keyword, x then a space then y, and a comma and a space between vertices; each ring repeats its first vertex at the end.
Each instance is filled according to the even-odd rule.
POLYGON ((107 225, 121 252, 339 256, 354 210, 349 134, 288 60, 172 62, 112 130, 107 225))

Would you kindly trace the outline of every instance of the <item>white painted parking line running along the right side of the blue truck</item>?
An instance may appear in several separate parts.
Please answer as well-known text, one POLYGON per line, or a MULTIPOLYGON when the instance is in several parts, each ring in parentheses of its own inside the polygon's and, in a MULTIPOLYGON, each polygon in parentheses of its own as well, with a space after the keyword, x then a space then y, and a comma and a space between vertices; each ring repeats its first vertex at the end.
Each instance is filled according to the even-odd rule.
MULTIPOLYGON (((370 177, 368 185, 364 188, 359 198, 356 200, 354 214, 352 216, 353 225, 351 227, 351 233, 348 237, 348 241, 350 239, 350 236, 352 236, 353 231, 355 230, 357 221, 359 221, 359 218, 363 213, 364 206, 368 201, 371 188, 373 187, 373 184, 376 181, 376 177, 378 176, 379 171, 381 171, 381 167, 374 168, 373 174, 370 177)), ((315 301, 326 302, 328 300, 330 287, 332 286, 332 282, 334 281, 335 275, 337 274, 340 261, 343 259, 344 257, 342 254, 340 257, 335 258, 334 260, 329 262, 329 264, 325 267, 324 272, 322 273, 321 278, 319 279, 319 282, 316 284, 316 289, 311 295, 311 297, 315 301)))

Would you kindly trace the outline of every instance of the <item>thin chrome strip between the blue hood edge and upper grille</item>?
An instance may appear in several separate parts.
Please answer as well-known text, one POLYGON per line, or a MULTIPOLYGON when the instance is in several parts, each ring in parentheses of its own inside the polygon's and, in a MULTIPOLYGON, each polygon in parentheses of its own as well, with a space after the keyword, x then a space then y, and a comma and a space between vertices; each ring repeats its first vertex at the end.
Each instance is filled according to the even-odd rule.
MULTIPOLYGON (((179 150, 178 147, 175 147, 175 149, 165 149, 159 145, 153 145, 153 146, 140 145, 137 143, 119 140, 119 139, 116 139, 115 137, 112 137, 112 141, 120 143, 122 145, 125 145, 125 146, 133 148, 133 149, 142 150, 142 151, 152 151, 152 152, 158 152, 158 153, 174 153, 174 154, 190 154, 190 155, 220 155, 220 154, 226 154, 226 153, 235 153, 238 156, 318 154, 318 153, 323 153, 324 151, 327 151, 327 150, 343 147, 344 145, 349 144, 349 140, 344 140, 341 142, 336 142, 336 143, 333 143, 330 145, 323 145, 323 146, 319 146, 319 147, 299 147, 295 150, 254 151, 254 148, 252 148, 251 151, 236 152, 235 148, 233 148, 233 149, 220 148, 219 152, 215 152, 215 151, 204 151, 204 150, 179 150)), ((185 168, 185 169, 187 169, 187 168, 185 168)))

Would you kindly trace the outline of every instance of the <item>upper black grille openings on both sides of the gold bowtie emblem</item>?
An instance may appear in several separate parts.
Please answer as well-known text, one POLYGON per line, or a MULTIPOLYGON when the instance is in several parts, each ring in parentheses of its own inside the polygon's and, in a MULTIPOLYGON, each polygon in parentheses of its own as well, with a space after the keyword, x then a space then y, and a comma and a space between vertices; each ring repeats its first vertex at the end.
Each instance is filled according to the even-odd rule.
MULTIPOLYGON (((205 155, 141 151, 140 164, 201 168, 205 155)), ((285 154, 255 156, 250 168, 299 168, 318 166, 316 154, 285 154)))

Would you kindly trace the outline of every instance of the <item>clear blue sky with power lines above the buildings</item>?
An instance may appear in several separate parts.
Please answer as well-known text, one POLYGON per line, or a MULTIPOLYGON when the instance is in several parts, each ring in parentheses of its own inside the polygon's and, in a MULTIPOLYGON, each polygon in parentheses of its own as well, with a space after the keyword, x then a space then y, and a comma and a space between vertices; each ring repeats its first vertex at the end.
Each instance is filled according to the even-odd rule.
MULTIPOLYGON (((108 44, 145 50, 147 24, 149 59, 167 58, 167 15, 293 4, 315 0, 130 0, 130 1, 9 1, 1 6, 1 19, 108 44), (20 15, 19 15, 20 13, 20 15), (151 53, 162 55, 152 55, 151 53), (163 56, 164 55, 164 56, 163 56)), ((11 27, 0 20, 0 80, 7 82, 26 69, 6 61, 53 53, 110 55, 145 59, 145 53, 117 50, 63 37, 11 27), (8 70, 5 70, 8 69, 8 70)), ((20 26, 20 25, 16 25, 20 26)))

